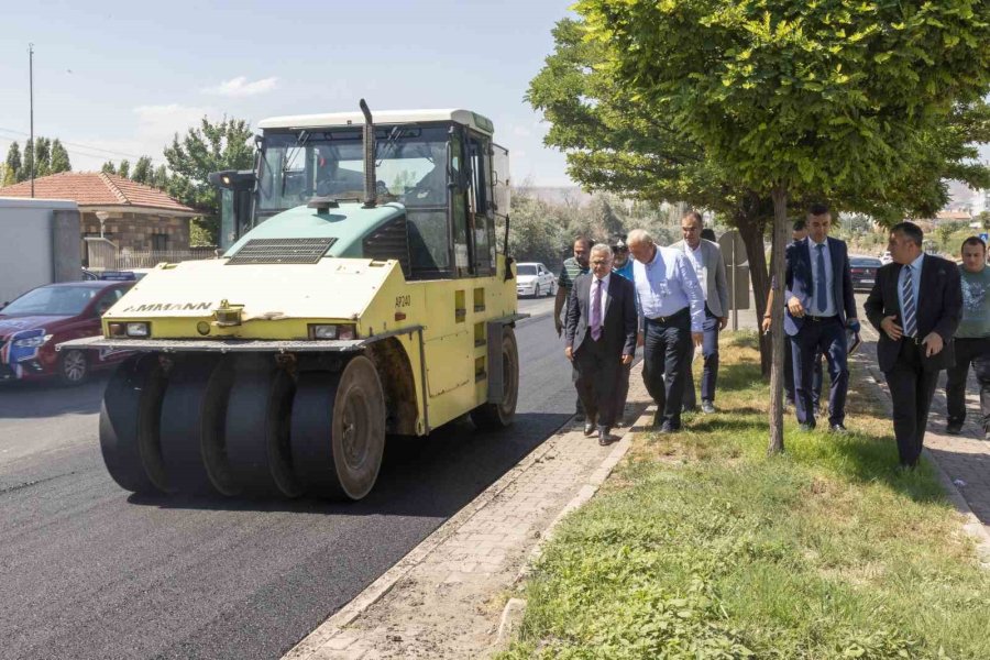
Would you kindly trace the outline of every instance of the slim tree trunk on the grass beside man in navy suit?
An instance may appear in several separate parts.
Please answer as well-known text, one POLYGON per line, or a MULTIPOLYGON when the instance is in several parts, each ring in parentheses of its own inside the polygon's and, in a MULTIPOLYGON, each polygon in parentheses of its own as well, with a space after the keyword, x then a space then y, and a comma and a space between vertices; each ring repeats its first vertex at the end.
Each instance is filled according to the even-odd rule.
POLYGON ((788 189, 784 186, 774 188, 773 198, 773 308, 770 310, 772 328, 771 342, 773 362, 770 367, 770 446, 768 454, 783 451, 783 383, 784 383, 784 342, 783 305, 784 300, 784 246, 788 244, 790 227, 788 222, 788 189))

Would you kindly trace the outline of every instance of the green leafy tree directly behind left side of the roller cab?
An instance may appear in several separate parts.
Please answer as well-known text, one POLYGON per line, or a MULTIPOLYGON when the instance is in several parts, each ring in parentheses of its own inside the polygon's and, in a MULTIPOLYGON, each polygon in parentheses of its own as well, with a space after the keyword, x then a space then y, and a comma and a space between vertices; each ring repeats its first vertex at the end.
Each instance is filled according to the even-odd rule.
POLYGON ((165 148, 165 161, 173 176, 167 191, 186 206, 202 211, 194 223, 217 244, 220 234, 220 200, 207 176, 221 169, 248 169, 254 165, 254 146, 249 143, 252 132, 246 121, 223 118, 217 123, 202 118, 199 128, 189 129, 179 140, 165 148))

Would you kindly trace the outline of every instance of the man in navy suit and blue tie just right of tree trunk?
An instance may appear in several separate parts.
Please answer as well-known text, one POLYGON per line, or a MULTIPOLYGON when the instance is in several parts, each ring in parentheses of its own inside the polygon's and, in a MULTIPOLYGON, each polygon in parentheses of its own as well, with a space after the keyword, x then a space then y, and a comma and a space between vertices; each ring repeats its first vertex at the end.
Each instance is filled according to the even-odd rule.
POLYGON ((794 362, 794 403, 804 430, 815 428, 812 397, 814 361, 824 354, 832 387, 828 392, 828 428, 845 433, 846 328, 859 331, 853 275, 846 243, 828 237, 832 215, 822 204, 807 212, 807 238, 787 248, 784 332, 791 338, 794 362))

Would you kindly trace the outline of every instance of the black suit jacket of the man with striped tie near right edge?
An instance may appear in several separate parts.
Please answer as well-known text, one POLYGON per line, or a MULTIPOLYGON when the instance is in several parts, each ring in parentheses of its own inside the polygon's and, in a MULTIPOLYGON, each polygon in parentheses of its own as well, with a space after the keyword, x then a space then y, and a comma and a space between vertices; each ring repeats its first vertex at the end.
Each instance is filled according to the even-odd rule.
MULTIPOLYGON (((880 333, 877 343, 877 362, 880 371, 893 369, 901 351, 901 339, 894 341, 880 328, 884 317, 898 317, 895 322, 903 327, 901 301, 898 298, 898 278, 903 266, 898 263, 887 264, 877 271, 877 282, 867 298, 864 309, 870 323, 880 333)), ((915 324, 917 338, 924 339, 930 332, 937 332, 945 342, 945 348, 937 355, 922 355, 922 367, 926 371, 946 369, 955 363, 953 336, 963 318, 963 286, 959 282, 959 268, 953 262, 926 254, 922 262, 922 279, 917 289, 917 309, 915 324)))

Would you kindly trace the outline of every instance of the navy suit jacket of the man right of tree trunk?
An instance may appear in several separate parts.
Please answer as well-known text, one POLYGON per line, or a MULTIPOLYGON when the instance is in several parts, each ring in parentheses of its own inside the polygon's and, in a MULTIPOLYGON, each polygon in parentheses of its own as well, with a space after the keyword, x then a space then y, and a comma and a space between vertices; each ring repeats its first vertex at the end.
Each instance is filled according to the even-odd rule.
MULTIPOLYGON (((853 296, 853 272, 849 270, 849 252, 845 241, 826 238, 828 241, 828 255, 832 257, 832 294, 835 298, 835 308, 843 326, 846 319, 856 318, 856 298, 853 296)), ((787 248, 787 278, 784 284, 784 332, 790 336, 798 334, 804 324, 803 318, 791 316, 787 304, 792 297, 796 297, 807 314, 812 314, 812 295, 814 294, 814 279, 812 279, 812 257, 809 240, 795 241, 787 248)))

